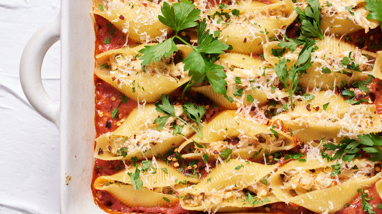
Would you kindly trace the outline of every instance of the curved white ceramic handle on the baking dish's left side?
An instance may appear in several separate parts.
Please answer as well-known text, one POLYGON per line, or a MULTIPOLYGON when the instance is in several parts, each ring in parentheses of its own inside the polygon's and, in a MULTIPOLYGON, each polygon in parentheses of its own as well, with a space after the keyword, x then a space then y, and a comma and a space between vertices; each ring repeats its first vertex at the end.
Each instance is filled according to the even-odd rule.
POLYGON ((41 67, 48 49, 60 39, 60 17, 41 27, 26 43, 20 62, 20 82, 29 103, 43 117, 58 126, 60 104, 50 98, 41 79, 41 67))

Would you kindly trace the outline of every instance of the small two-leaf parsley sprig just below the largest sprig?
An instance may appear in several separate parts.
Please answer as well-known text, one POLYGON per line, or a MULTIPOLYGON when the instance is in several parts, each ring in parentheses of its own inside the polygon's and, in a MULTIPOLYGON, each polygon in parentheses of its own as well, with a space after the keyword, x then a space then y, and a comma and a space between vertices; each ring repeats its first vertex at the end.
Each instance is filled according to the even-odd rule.
POLYGON ((187 126, 191 127, 199 135, 200 138, 203 138, 202 127, 201 127, 200 121, 201 121, 202 117, 204 116, 204 114, 206 113, 205 107, 196 106, 196 104, 191 104, 191 103, 186 103, 183 106, 183 112, 192 121, 194 121, 196 123, 196 125, 197 125, 197 130, 196 130, 193 126, 191 126, 185 120, 183 120, 182 118, 175 115, 175 109, 172 106, 172 104, 170 103, 168 96, 162 94, 161 102, 162 102, 162 104, 159 101, 155 103, 155 107, 156 107, 155 109, 159 112, 167 114, 167 116, 158 117, 154 120, 154 124, 159 123, 157 130, 162 130, 162 128, 165 126, 165 124, 167 122, 167 119, 172 116, 172 117, 175 117, 178 120, 182 121, 187 126))

